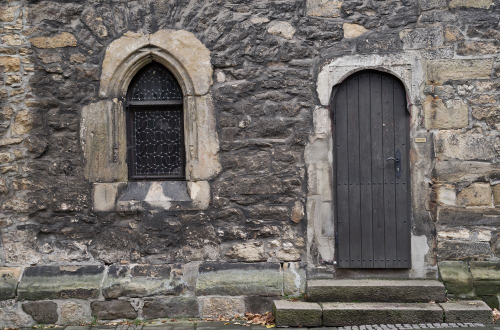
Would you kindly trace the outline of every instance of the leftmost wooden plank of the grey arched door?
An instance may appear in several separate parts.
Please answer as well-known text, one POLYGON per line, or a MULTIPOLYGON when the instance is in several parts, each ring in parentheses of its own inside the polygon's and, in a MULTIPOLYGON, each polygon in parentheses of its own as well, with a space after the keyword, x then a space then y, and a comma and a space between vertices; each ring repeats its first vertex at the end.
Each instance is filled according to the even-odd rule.
POLYGON ((337 91, 335 113, 335 163, 336 163, 336 210, 338 234, 338 266, 350 266, 349 251, 349 177, 348 177, 348 149, 347 149, 347 88, 345 85, 337 91))

